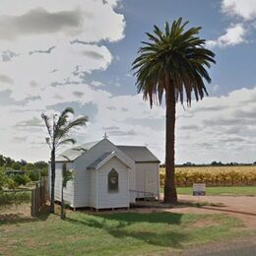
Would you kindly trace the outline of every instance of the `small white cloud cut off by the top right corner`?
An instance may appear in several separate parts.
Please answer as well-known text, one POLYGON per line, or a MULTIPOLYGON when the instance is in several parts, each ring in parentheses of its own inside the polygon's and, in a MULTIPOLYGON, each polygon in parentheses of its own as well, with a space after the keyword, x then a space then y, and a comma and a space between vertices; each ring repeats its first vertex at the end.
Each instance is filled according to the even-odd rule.
POLYGON ((225 14, 245 21, 256 18, 256 0, 223 0, 222 9, 225 14))

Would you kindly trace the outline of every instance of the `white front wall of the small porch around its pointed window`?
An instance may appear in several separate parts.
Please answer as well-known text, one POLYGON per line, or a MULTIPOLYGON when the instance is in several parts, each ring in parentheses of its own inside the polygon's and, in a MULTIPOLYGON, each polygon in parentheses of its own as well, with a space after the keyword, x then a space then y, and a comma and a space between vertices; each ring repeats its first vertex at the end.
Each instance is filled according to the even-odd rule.
POLYGON ((120 160, 107 161, 97 172, 96 209, 122 208, 130 205, 129 168, 120 160), (114 168, 118 172, 118 191, 108 191, 108 173, 114 168))

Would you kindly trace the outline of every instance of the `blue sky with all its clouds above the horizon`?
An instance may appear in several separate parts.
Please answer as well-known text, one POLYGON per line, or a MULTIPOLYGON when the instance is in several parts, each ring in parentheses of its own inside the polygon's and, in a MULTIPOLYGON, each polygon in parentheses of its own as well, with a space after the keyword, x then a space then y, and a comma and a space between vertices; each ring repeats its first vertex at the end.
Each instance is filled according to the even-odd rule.
MULTIPOLYGON (((131 63, 145 32, 182 17, 216 53, 209 96, 177 104, 175 161, 256 160, 256 0, 0 0, 0 154, 48 160, 41 112, 67 106, 117 145, 164 161, 164 105, 137 94, 131 63)), ((74 118, 75 118, 74 117, 74 118)), ((60 149, 62 151, 64 149, 60 149)))

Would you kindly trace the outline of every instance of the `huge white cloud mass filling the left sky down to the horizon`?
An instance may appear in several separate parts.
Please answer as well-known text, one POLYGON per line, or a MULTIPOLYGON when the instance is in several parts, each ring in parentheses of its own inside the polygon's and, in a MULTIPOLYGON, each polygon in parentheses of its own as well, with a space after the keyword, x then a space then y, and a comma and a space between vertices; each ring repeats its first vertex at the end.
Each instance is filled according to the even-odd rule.
POLYGON ((84 81, 111 63, 105 42, 124 36, 124 16, 115 11, 118 2, 1 1, 0 94, 11 97, 9 105, 0 105, 5 113, 0 121, 2 154, 45 159, 41 111, 52 113, 57 104, 74 102, 82 107, 111 96, 96 91, 96 81, 92 86, 84 81))

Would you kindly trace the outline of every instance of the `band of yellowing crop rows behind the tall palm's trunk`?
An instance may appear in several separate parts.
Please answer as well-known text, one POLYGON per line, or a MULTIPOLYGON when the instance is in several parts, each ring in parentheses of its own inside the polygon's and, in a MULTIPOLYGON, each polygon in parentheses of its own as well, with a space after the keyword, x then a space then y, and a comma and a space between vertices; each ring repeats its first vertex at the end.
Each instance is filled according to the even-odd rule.
MULTIPOLYGON (((256 185, 256 166, 176 167, 175 178, 178 187, 201 182, 207 186, 256 185)), ((164 168, 160 168, 160 185, 164 185, 164 168)))

